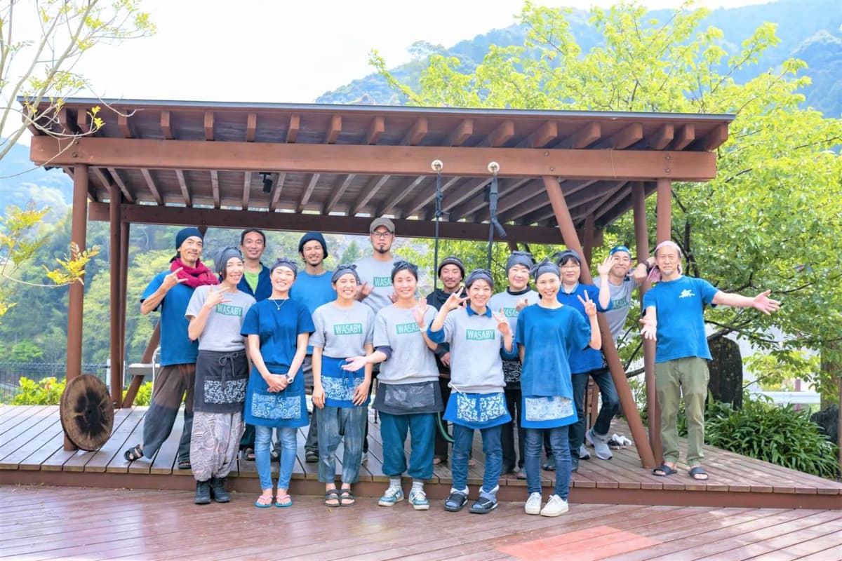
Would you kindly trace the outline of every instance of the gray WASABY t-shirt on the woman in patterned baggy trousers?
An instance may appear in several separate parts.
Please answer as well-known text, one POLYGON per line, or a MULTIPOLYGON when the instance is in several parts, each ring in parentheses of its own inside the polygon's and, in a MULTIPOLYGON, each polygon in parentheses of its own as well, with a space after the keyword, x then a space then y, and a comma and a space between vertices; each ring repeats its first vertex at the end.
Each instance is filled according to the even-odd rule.
MULTIPOLYGON (((190 297, 187 310, 184 312, 184 316, 188 320, 199 315, 202 306, 205 305, 210 288, 213 288, 216 292, 221 289, 218 285, 205 285, 193 291, 193 296, 190 297)), ((246 317, 246 312, 252 307, 255 300, 253 296, 242 292, 242 290, 237 290, 237 292, 226 290, 222 294, 227 302, 216 304, 216 307, 210 310, 205 329, 199 336, 200 351, 231 352, 242 351, 245 348, 242 335, 240 335, 240 331, 242 331, 240 328, 243 318, 246 317)))

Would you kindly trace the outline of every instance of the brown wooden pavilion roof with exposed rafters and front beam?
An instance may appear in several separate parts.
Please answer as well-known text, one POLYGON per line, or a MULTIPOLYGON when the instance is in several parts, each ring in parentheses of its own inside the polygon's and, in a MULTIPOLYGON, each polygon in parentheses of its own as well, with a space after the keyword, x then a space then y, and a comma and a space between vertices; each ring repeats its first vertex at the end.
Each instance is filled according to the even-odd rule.
MULTIPOLYGON (((590 217, 601 229, 631 208, 632 182, 651 193, 658 177, 714 177, 711 151, 727 140, 733 120, 728 114, 76 98, 40 125, 52 133, 87 133, 94 106, 104 126, 90 136, 56 141, 30 127, 36 163, 69 173, 88 164, 90 200, 109 200, 116 185, 126 212, 125 205, 151 204, 315 214, 330 217, 325 231, 357 224, 338 220, 354 216, 429 222, 434 159, 444 162, 443 220, 488 221, 488 162, 498 161, 498 220, 504 224, 554 229, 541 180, 552 175, 561 181, 577 228, 590 217), (269 172, 270 193, 260 172, 269 172)), ((162 222, 175 216, 192 221, 189 212, 159 210, 173 217, 162 222)), ((149 221, 150 211, 136 212, 134 221, 149 221)), ((99 214, 93 205, 93 217, 99 214)))

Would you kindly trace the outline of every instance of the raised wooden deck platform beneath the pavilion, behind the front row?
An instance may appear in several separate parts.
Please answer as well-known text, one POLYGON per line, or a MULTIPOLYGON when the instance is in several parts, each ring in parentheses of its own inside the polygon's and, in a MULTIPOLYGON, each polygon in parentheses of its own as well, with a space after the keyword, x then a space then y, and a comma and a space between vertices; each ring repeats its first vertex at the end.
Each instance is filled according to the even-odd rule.
MULTIPOLYGON (((189 490, 195 481, 189 470, 175 467, 181 421, 150 462, 126 463, 123 451, 141 442, 143 415, 147 408, 118 410, 111 438, 97 452, 66 452, 54 406, 0 405, 0 484, 50 484, 104 488, 189 490)), ((616 421, 612 432, 627 434, 616 421)), ((317 464, 304 462, 304 436, 299 450, 291 490, 295 494, 321 495, 317 464)), ((370 417, 368 460, 363 464, 355 493, 379 496, 387 478, 381 471, 382 447, 379 426, 370 417)), ((640 466, 634 447, 616 450, 610 461, 591 459, 573 474, 570 500, 575 503, 621 505, 720 506, 746 508, 798 508, 842 510, 842 484, 791 469, 706 447, 705 466, 710 479, 699 482, 679 464, 679 474, 656 477, 640 466)), ((341 449, 340 449, 341 458, 341 449)), ((469 484, 482 483, 483 455, 477 433, 473 451, 477 465, 470 469, 469 484)), ((277 470, 277 464, 273 464, 277 470)), ((337 470, 341 469, 337 466, 337 470)), ((552 485, 553 472, 541 472, 545 488, 552 485)), ((230 487, 249 493, 257 490, 253 462, 239 460, 230 487)), ((427 486, 433 499, 450 490, 450 469, 436 466, 427 486)), ((500 479, 501 500, 524 500, 525 481, 508 475, 500 479)))

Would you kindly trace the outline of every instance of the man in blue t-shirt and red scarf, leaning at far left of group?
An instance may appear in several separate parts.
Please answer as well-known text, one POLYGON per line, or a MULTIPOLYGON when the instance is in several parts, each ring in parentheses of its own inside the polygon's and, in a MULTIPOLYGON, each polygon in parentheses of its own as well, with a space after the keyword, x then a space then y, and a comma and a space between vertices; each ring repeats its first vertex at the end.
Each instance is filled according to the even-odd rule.
POLYGON ((187 335, 184 316, 195 288, 218 284, 216 273, 201 262, 203 236, 198 228, 184 228, 175 236, 176 256, 168 271, 158 273, 141 296, 141 314, 161 310, 161 367, 155 373, 152 403, 143 418, 143 442, 123 453, 128 462, 152 458, 173 431, 184 396, 184 431, 179 441, 179 469, 190 468, 193 431, 193 386, 198 341, 187 335))

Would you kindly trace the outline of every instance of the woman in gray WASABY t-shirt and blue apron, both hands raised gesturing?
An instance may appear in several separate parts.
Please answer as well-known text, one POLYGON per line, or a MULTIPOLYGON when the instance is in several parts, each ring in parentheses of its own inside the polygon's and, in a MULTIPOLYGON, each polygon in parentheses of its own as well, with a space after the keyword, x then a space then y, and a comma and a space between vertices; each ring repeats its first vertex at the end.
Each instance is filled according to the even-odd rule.
POLYGON ((464 288, 441 306, 427 335, 436 343, 450 343, 450 399, 445 421, 453 423, 453 487, 445 511, 461 511, 468 500, 468 456, 474 430, 482 434, 485 473, 471 512, 485 514, 497 508, 498 479, 503 468, 501 428, 512 420, 506 409, 503 358, 517 357, 509 320, 488 307, 494 282, 488 269, 473 270, 464 288), (462 306, 469 300, 466 306, 462 306))

